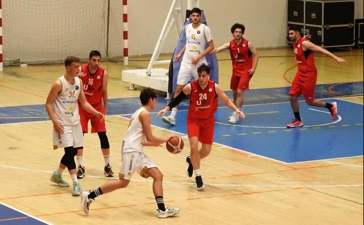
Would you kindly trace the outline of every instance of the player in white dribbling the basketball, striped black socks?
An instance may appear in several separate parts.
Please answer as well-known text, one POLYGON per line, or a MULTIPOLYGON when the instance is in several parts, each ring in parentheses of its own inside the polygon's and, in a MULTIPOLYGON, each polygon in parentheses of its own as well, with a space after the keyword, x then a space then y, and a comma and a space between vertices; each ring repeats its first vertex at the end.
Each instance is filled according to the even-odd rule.
POLYGON ((134 172, 138 172, 144 178, 149 176, 153 178, 153 193, 158 206, 159 218, 167 218, 179 212, 179 209, 169 209, 165 206, 162 186, 163 174, 143 152, 144 146, 159 147, 172 136, 160 139, 152 134, 149 111, 155 109, 157 105, 157 94, 153 89, 143 89, 140 93, 140 101, 142 107, 131 116, 129 127, 123 139, 119 180, 110 181, 91 192, 82 191, 81 208, 86 214, 89 212, 91 202, 95 201, 96 197, 127 187, 134 172))

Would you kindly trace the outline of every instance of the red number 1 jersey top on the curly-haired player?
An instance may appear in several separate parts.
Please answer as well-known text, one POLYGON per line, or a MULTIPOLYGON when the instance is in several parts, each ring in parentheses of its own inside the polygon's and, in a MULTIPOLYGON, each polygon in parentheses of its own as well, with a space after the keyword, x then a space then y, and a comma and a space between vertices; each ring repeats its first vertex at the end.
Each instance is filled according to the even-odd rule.
POLYGON ((248 49, 248 40, 243 38, 240 44, 235 39, 231 40, 229 50, 233 61, 233 75, 250 76, 248 71, 253 68, 253 55, 248 49))

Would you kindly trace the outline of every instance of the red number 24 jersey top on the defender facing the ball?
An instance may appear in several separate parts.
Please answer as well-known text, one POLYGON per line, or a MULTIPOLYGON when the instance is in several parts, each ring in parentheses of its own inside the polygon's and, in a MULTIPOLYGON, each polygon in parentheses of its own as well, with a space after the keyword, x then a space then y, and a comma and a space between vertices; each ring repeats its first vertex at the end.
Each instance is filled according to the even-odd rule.
POLYGON ((207 119, 217 110, 217 94, 215 82, 208 81, 204 90, 198 85, 198 80, 191 82, 190 108, 187 117, 207 119))

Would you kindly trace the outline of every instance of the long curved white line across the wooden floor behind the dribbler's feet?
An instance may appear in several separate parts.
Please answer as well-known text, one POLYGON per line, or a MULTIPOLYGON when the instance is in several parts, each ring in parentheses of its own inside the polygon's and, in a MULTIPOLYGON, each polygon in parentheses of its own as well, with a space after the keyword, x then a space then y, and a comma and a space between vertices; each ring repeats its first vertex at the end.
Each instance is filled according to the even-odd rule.
MULTIPOLYGON (((20 169, 20 170, 30 170, 30 171, 37 171, 37 172, 53 173, 52 171, 32 170, 32 169, 28 169, 28 168, 21 168, 21 167, 15 167, 15 166, 7 166, 7 165, 1 165, 1 164, 0 164, 0 166, 2 166, 2 167, 8 167, 8 168, 20 169)), ((63 173, 62 175, 69 175, 69 174, 63 173)), ((86 175, 85 177, 119 180, 119 178, 108 178, 108 177, 92 176, 92 175, 86 175)), ((146 180, 146 179, 144 179, 144 180, 131 179, 131 181, 153 182, 152 180, 146 180)), ((163 181, 163 183, 195 185, 194 182, 192 183, 192 182, 163 181)), ((228 186, 228 187, 363 187, 362 184, 360 184, 360 185, 357 185, 356 184, 356 185, 297 185, 297 186, 293 186, 293 185, 238 185, 238 184, 216 184, 216 183, 206 184, 205 183, 205 185, 210 185, 210 186, 228 186)))

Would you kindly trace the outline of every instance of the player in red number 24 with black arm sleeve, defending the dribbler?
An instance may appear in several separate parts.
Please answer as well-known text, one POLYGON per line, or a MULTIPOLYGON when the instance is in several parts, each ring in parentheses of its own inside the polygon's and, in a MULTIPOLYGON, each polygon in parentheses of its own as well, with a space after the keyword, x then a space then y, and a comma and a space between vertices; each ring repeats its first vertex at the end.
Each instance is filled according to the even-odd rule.
POLYGON ((186 158, 187 176, 192 177, 193 172, 195 172, 196 187, 200 190, 205 187, 200 173, 200 160, 211 152, 217 97, 221 98, 227 107, 234 110, 241 119, 244 119, 245 115, 230 101, 218 84, 209 80, 210 68, 207 65, 201 64, 197 69, 197 75, 198 80, 186 85, 182 92, 166 108, 158 112, 157 118, 178 105, 187 95, 190 95, 190 108, 187 113, 187 133, 190 140, 191 156, 186 158), (198 150, 198 141, 202 143, 200 150, 198 150))

